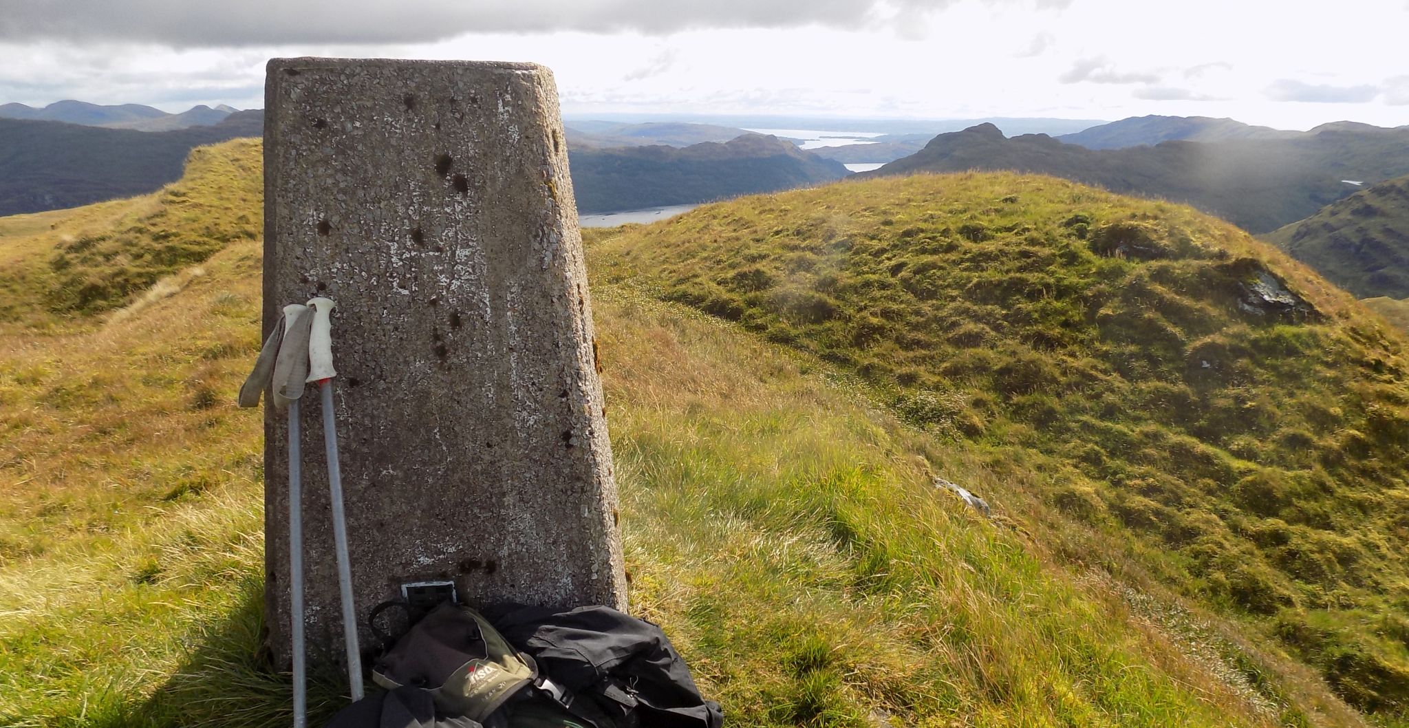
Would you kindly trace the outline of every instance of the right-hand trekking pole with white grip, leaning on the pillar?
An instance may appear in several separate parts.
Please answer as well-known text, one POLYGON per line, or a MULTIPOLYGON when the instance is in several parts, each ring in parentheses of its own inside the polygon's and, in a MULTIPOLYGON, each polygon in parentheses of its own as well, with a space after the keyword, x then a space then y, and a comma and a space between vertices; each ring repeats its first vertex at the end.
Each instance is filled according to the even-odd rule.
POLYGON ((338 555, 338 591, 342 598, 342 639, 348 652, 348 683, 352 700, 362 700, 362 653, 356 642, 356 605, 352 603, 352 567, 348 558, 347 517, 342 513, 342 470, 338 466, 338 431, 333 411, 333 307, 331 299, 313 299, 313 330, 309 334, 309 382, 318 383, 323 397, 323 445, 328 458, 328 487, 333 506, 333 542, 338 555))

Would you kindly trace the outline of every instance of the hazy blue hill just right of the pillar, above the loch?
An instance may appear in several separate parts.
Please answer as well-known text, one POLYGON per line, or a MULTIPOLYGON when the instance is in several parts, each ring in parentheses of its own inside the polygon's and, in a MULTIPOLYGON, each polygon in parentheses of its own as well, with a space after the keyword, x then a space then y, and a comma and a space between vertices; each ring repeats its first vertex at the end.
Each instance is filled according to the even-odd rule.
POLYGON ((840 162, 762 134, 728 142, 624 146, 571 152, 572 189, 582 213, 690 204, 806 187, 847 176, 840 162))

